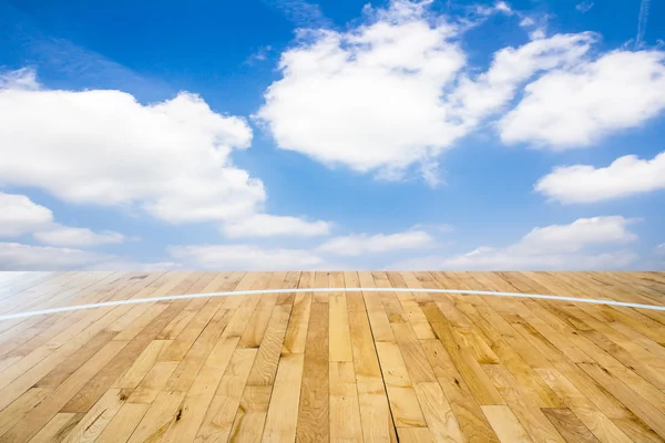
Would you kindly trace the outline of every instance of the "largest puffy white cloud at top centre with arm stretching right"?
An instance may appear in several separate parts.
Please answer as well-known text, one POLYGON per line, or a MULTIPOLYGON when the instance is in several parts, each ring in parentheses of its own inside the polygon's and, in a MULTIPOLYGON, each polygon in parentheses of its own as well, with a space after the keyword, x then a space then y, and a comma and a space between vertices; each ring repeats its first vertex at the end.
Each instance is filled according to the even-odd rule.
MULTIPOLYGON (((594 40, 565 34, 505 48, 488 72, 471 78, 459 44, 463 27, 433 17, 429 3, 393 0, 347 32, 300 32, 256 115, 278 147, 388 179, 421 164, 436 184, 434 157, 534 73, 577 61, 594 40)), ((511 10, 502 2, 487 9, 495 12, 511 10)))

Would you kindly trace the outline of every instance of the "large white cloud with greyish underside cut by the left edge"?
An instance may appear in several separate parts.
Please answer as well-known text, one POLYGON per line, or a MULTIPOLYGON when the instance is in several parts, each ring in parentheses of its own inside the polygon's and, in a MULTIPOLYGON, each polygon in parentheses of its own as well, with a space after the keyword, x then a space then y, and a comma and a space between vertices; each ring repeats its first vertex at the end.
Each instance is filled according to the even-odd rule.
MULTIPOLYGON (((151 105, 120 91, 0 89, 0 176, 75 204, 137 205, 170 222, 254 213, 263 184, 231 162, 252 130, 181 93, 151 105)), ((30 82, 29 82, 30 83, 30 82)))

